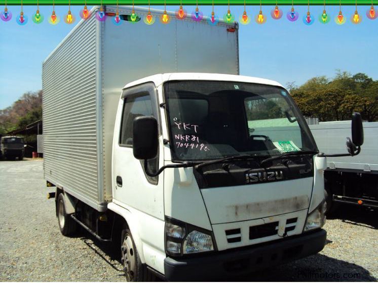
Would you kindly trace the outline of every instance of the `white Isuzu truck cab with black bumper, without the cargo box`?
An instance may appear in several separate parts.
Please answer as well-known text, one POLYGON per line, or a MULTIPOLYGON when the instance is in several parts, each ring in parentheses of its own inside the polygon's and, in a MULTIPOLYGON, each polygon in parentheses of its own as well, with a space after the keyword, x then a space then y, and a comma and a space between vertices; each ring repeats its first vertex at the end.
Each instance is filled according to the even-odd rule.
POLYGON ((107 205, 127 221, 126 276, 138 279, 139 261, 174 281, 230 276, 321 251, 325 168, 275 81, 168 73, 127 84, 107 205))

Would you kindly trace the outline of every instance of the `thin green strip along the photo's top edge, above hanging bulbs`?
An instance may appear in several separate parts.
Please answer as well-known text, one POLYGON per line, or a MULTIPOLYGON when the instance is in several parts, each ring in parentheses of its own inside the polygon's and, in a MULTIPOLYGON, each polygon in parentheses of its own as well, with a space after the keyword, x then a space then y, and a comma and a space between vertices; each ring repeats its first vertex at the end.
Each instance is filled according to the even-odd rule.
MULTIPOLYGON (((36 5, 36 0, 23 0, 23 5, 36 5)), ((84 5, 84 0, 71 0, 71 5, 84 5)), ((196 5, 196 0, 183 0, 182 5, 196 5)), ((198 5, 212 5, 212 0, 198 0, 198 5)), ((228 0, 214 0, 214 5, 228 5, 228 0)), ((279 5, 291 5, 291 0, 279 0, 279 5)), ((68 0, 54 0, 55 5, 68 5, 68 0)), ((116 5, 117 0, 102 0, 102 5, 116 5)), ((132 5, 131 0, 119 0, 119 5, 132 5)), ((146 6, 148 0, 135 0, 135 5, 146 6)), ((327 0, 326 5, 339 5, 339 0, 327 0)), ((378 0, 373 1, 378 5, 378 0)), ((5 0, 0 0, 0 5, 5 5, 5 0)), ((7 0, 7 5, 21 5, 21 0, 7 0)), ((39 0, 39 5, 53 5, 52 0, 39 0)), ((87 5, 100 5, 100 0, 87 1, 87 5)), ((150 5, 164 5, 164 0, 150 0, 150 5)), ((166 5, 179 6, 180 0, 166 0, 166 5)), ((230 0, 230 5, 244 5, 244 0, 230 0)), ((259 0, 246 0, 246 5, 260 5, 259 0)), ((276 5, 276 0, 262 0, 262 5, 276 5)), ((294 0, 294 5, 308 5, 308 0, 294 0)), ((324 0, 310 0, 310 6, 324 5, 324 0)), ((341 5, 356 5, 355 0, 342 0, 341 5)), ((357 0, 357 5, 371 5, 371 0, 357 0)))

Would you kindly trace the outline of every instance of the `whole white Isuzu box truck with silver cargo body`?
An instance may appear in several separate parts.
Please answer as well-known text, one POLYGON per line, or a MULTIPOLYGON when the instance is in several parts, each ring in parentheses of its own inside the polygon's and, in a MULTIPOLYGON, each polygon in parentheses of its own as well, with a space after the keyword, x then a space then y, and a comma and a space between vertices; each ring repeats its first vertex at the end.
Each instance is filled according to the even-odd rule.
POLYGON ((132 24, 121 7, 116 26, 116 7, 104 22, 98 9, 43 63, 61 232, 119 246, 130 281, 224 278, 321 251, 326 158, 282 85, 239 75, 237 23, 132 24))

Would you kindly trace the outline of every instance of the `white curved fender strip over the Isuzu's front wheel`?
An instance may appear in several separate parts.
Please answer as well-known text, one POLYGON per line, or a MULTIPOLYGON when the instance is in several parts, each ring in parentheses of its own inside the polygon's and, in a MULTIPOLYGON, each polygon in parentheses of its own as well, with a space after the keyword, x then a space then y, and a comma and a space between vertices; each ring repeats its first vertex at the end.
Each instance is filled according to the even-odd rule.
POLYGON ((129 226, 131 234, 133 235, 134 244, 136 246, 136 250, 138 251, 138 255, 142 263, 145 263, 144 260, 144 253, 143 253, 143 244, 139 235, 139 225, 136 221, 134 221, 132 213, 124 208, 121 207, 113 202, 107 204, 107 208, 118 215, 122 216, 129 226))

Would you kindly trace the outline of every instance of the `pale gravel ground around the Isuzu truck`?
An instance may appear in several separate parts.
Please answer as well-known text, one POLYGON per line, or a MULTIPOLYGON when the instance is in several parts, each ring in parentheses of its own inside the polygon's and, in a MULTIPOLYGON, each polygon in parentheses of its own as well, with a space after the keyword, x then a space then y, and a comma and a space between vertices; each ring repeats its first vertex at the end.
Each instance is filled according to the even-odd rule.
MULTIPOLYGON (((124 281, 109 246, 85 231, 60 234, 42 166, 41 160, 0 162, 0 281, 124 281)), ((327 245, 319 254, 232 279, 376 281, 377 219, 376 212, 342 207, 327 220, 327 245)))

